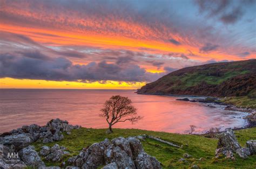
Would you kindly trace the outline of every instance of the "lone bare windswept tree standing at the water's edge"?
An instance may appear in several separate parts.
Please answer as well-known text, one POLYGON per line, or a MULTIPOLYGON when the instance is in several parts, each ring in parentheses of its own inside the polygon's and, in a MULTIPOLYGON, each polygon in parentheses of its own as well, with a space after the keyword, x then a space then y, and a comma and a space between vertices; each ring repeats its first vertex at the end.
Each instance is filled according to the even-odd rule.
POLYGON ((137 115, 137 109, 131 104, 132 101, 128 97, 120 95, 112 96, 104 104, 104 108, 101 109, 102 114, 100 117, 105 117, 107 123, 109 123, 108 133, 112 133, 112 125, 118 122, 130 121, 132 124, 142 119, 142 116, 137 115))

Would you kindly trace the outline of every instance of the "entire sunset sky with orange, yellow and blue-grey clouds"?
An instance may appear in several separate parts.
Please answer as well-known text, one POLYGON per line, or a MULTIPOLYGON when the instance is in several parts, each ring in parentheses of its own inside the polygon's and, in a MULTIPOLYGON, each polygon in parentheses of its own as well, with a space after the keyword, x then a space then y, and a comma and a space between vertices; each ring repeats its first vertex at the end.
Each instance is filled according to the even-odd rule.
POLYGON ((256 1, 0 0, 0 88, 137 89, 256 58, 256 1))

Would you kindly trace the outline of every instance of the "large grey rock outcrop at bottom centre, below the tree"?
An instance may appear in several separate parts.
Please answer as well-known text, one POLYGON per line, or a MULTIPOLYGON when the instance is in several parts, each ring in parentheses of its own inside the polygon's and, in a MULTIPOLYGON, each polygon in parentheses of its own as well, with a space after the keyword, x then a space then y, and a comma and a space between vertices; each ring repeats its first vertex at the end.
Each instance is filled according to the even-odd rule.
POLYGON ((159 161, 144 152, 137 138, 118 137, 92 144, 68 162, 82 168, 161 168, 159 161))

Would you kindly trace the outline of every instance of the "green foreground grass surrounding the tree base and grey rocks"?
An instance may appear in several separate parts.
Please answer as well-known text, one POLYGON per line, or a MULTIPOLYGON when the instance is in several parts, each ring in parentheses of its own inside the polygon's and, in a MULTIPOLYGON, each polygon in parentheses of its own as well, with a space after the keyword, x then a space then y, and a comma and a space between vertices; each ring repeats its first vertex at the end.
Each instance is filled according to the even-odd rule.
MULTIPOLYGON (((43 145, 53 146, 59 144, 68 149, 71 153, 70 156, 64 157, 63 161, 66 161, 69 157, 75 156, 83 149, 83 147, 90 146, 93 143, 100 142, 105 138, 113 139, 116 137, 129 137, 147 134, 151 136, 160 137, 161 139, 169 142, 183 145, 182 149, 172 147, 170 145, 160 143, 156 140, 147 138, 142 141, 144 150, 151 156, 156 157, 163 168, 188 168, 194 164, 199 165, 201 168, 255 168, 256 167, 256 155, 250 156, 248 159, 235 158, 235 161, 230 159, 214 158, 214 152, 217 147, 218 139, 206 138, 204 136, 197 135, 180 135, 167 132, 155 132, 138 129, 113 129, 113 133, 107 135, 106 129, 87 129, 81 128, 78 130, 72 130, 71 135, 64 133, 64 139, 59 142, 53 142, 43 144, 42 140, 39 140, 33 145, 36 150, 39 151, 43 145), (186 163, 180 163, 178 160, 183 157, 184 153, 188 153, 192 156, 190 159, 186 159, 186 163), (203 157, 203 161, 199 161, 199 158, 203 157)), ((242 146, 245 146, 246 140, 256 139, 256 128, 244 129, 235 131, 237 139, 242 146)), ((48 166, 58 166, 59 163, 46 162, 48 166)))

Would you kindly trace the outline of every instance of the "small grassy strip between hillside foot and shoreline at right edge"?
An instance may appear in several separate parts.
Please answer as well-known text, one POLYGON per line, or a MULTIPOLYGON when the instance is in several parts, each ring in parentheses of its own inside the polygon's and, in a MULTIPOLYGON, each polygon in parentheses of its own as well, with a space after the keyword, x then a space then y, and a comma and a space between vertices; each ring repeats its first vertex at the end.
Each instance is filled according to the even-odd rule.
POLYGON ((226 97, 223 98, 221 101, 227 104, 233 104, 238 108, 256 109, 256 98, 250 98, 248 96, 226 97))

